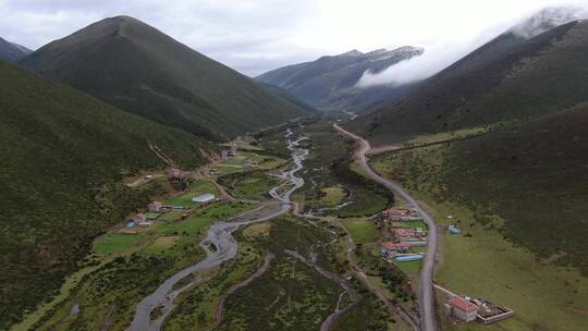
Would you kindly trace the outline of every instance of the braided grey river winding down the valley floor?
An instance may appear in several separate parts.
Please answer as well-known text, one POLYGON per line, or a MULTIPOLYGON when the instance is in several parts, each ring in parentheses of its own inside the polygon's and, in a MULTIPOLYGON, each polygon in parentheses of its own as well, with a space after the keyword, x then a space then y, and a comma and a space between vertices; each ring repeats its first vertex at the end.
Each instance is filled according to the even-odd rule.
MULTIPOLYGON (((287 131, 286 138, 292 136, 292 131, 287 131)), ((197 285, 197 280, 188 283, 182 289, 174 290, 174 285, 182 279, 192 273, 210 270, 222 262, 233 259, 238 252, 238 243, 234 240, 232 233, 241 226, 252 223, 264 222, 286 213, 293 206, 291 195, 304 185, 304 180, 296 175, 296 172, 302 170, 303 161, 308 155, 307 149, 298 147, 301 140, 287 139, 287 148, 292 151, 294 168, 284 172, 280 177, 284 181, 270 191, 270 195, 277 200, 272 204, 267 204, 260 208, 249 210, 230 221, 218 221, 208 230, 207 236, 200 242, 200 247, 206 252, 206 258, 196 265, 189 266, 161 283, 157 290, 144 297, 135 309, 135 316, 128 331, 159 331, 166 318, 172 312, 174 299, 182 292, 197 285), (285 192, 280 191, 287 188, 285 192), (213 244, 217 249, 210 249, 210 244, 213 244), (154 310, 159 309, 158 318, 151 320, 154 310)))

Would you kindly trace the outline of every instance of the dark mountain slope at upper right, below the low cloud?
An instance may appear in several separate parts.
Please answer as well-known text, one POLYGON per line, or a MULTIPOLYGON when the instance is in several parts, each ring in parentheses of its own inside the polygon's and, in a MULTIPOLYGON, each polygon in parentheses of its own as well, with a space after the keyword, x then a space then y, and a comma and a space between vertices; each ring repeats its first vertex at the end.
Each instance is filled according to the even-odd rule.
POLYGON ((350 127, 385 143, 550 114, 588 99, 587 52, 586 21, 510 30, 350 127))

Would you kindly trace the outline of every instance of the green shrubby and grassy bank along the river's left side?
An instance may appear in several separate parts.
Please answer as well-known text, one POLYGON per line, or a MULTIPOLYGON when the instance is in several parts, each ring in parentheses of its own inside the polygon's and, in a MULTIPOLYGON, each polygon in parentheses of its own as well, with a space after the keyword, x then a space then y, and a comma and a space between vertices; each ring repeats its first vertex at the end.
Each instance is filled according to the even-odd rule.
MULTIPOLYGON (((135 305, 152 293, 167 278, 196 263, 205 256, 199 241, 212 222, 250 208, 243 203, 216 203, 187 220, 157 222, 140 234, 114 234, 135 237, 135 246, 114 245, 121 256, 87 274, 70 297, 45 315, 35 329, 40 330, 124 330, 133 318, 135 305), (71 315, 74 303, 79 312, 71 315)), ((103 244, 96 246, 103 253, 103 244)))

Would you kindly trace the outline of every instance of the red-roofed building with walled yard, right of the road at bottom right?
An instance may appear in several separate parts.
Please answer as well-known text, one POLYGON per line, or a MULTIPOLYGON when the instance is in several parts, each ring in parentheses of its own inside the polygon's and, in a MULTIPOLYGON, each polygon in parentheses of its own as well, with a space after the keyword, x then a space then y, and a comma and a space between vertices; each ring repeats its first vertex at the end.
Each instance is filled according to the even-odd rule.
POLYGON ((512 309, 500 307, 487 299, 458 295, 450 297, 443 307, 448 318, 462 322, 477 320, 482 324, 491 324, 514 315, 512 309))

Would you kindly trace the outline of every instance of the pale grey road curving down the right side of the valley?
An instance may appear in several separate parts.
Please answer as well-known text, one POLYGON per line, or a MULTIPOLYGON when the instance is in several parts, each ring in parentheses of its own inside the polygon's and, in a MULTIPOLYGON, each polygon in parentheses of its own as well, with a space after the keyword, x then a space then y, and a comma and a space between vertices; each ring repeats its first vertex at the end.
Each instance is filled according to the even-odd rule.
POLYGON ((434 253, 437 249, 437 224, 434 218, 430 216, 418 201, 413 198, 402 186, 393 181, 380 176, 378 173, 371 169, 366 159, 366 154, 371 149, 369 142, 363 137, 355 135, 341 126, 333 124, 333 127, 343 136, 351 138, 357 143, 355 149, 355 158, 359 162, 359 166, 364 169, 366 174, 371 177, 373 181, 382 184, 389 191, 400 195, 405 199, 413 208, 415 208, 422 219, 429 226, 429 232, 427 233, 427 253, 425 259, 422 260, 422 268, 420 270, 419 281, 418 281, 418 308, 419 308, 419 328, 422 331, 436 331, 437 321, 434 318, 434 306, 433 306, 433 272, 434 272, 434 253))

